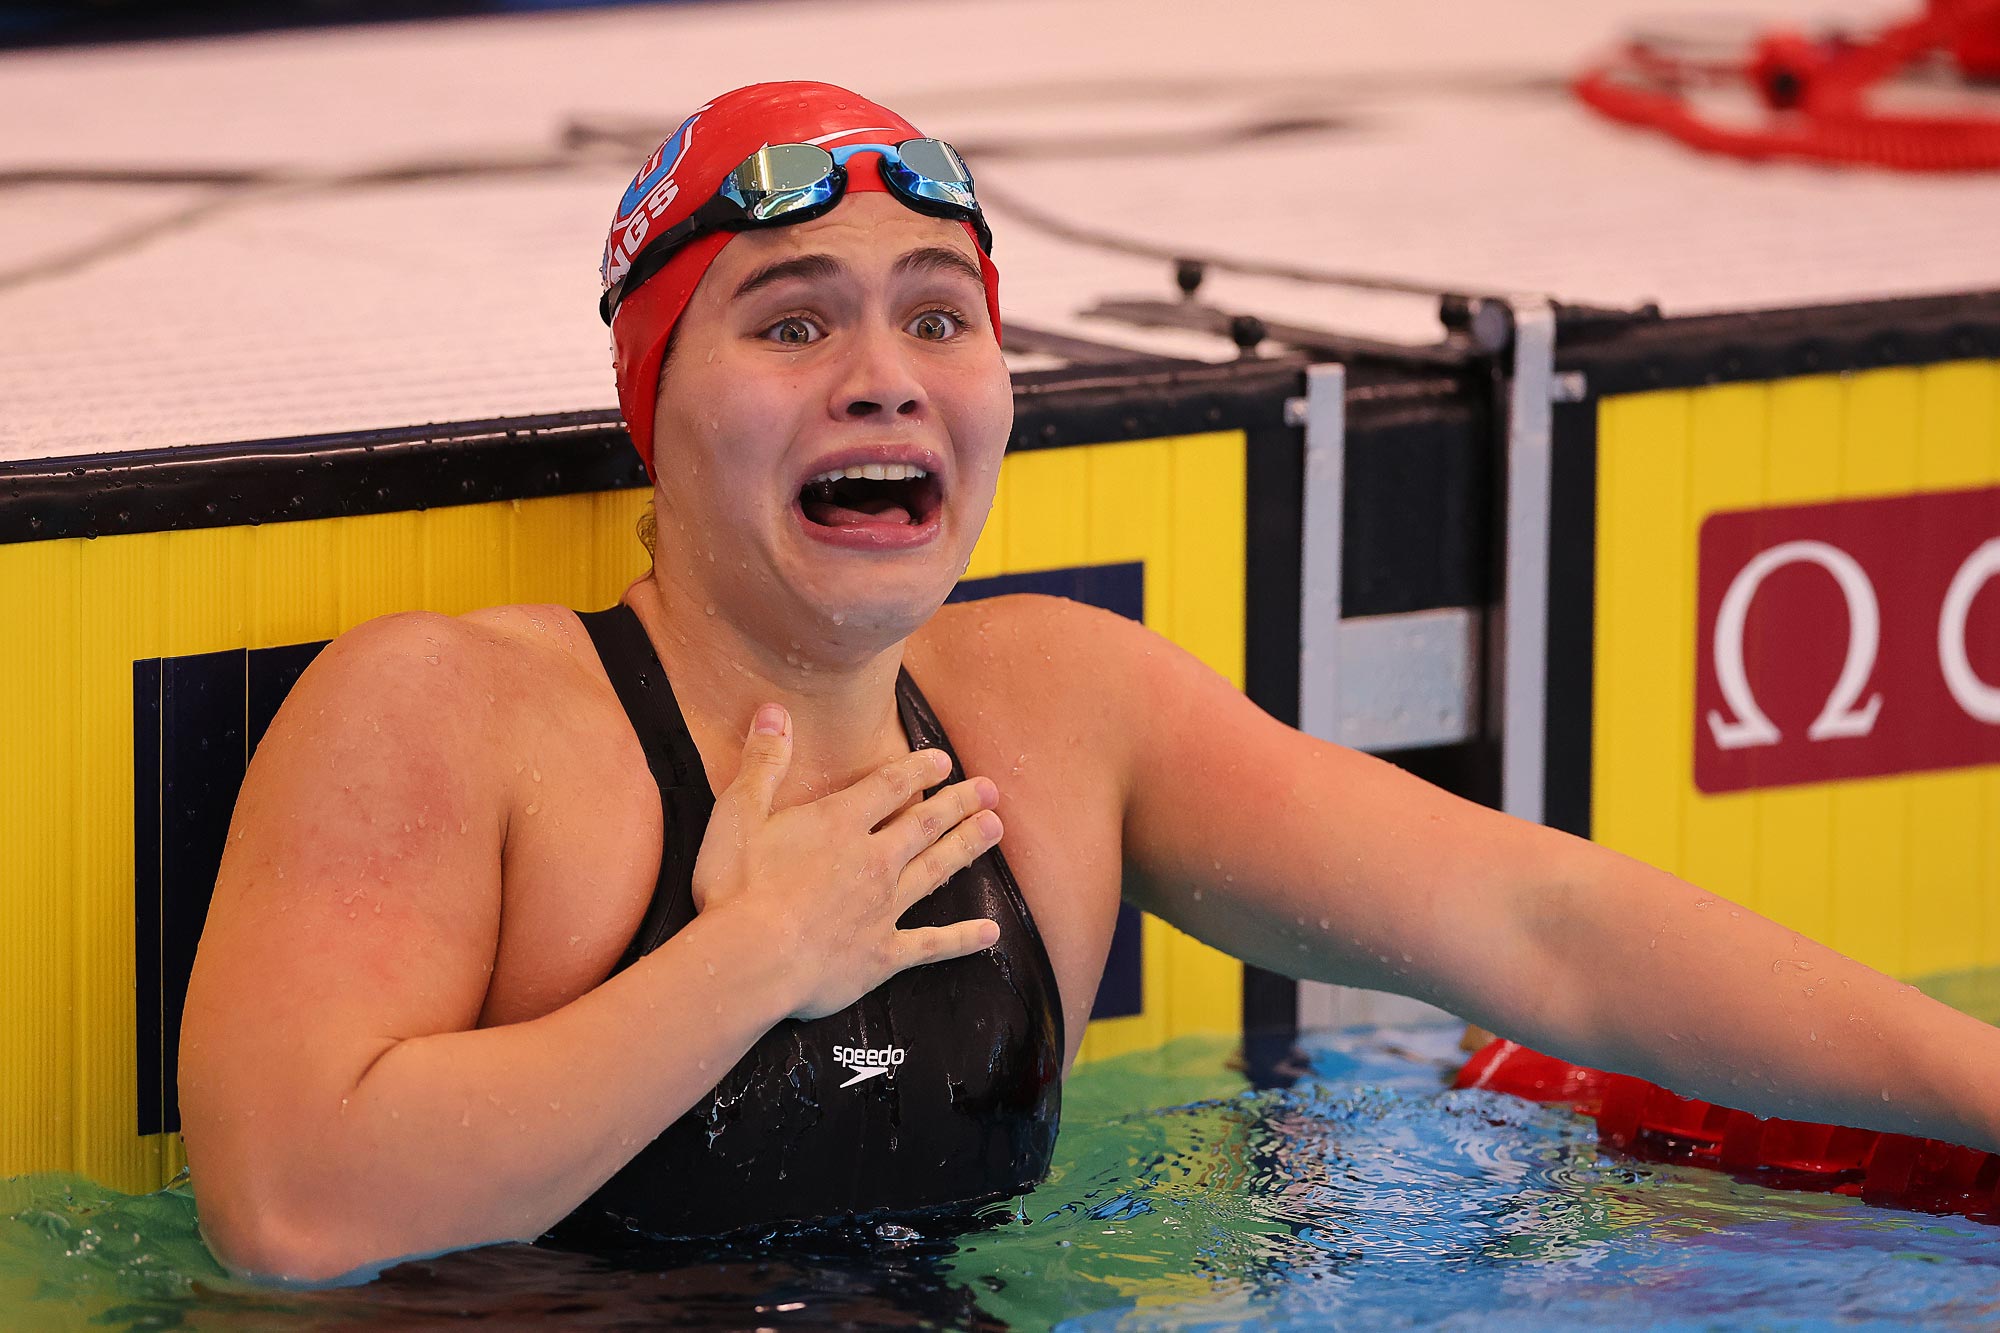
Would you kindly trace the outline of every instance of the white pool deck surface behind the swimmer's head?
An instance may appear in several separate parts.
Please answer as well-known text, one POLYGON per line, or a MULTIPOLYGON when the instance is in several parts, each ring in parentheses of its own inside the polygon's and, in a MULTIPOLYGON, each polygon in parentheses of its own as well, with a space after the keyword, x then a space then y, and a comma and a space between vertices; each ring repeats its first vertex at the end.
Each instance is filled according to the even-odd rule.
MULTIPOLYGON (((1176 252, 1670 314, 2000 288, 2000 174, 1708 158, 1566 92, 1634 26, 1714 8, 738 0, 4 54, 0 458, 612 408, 612 206, 686 112, 766 78, 852 86, 964 146, 1004 316, 1134 348, 1232 354, 1082 316, 1170 296, 1168 264, 1020 202, 1176 252), (1280 122, 1320 128, 1246 134, 1280 122), (532 170, 352 180, 466 164, 532 170), (48 178, 204 168, 264 180, 48 178)), ((1732 8, 1874 26, 1916 0, 1732 8)), ((1232 274, 1204 294, 1438 332, 1430 296, 1232 274)))

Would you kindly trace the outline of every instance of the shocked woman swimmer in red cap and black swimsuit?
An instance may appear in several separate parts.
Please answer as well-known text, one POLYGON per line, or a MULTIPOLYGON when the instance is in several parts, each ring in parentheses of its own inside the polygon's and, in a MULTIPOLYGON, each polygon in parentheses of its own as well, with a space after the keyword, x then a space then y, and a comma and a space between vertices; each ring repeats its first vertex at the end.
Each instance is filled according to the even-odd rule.
POLYGON ((1140 624, 942 606, 1010 432, 996 284, 956 154, 838 88, 732 92, 646 162, 602 310, 652 570, 584 618, 362 624, 250 765, 180 1057, 226 1265, 1024 1189, 1120 899, 1690 1095, 2000 1147, 1986 1025, 1140 624))

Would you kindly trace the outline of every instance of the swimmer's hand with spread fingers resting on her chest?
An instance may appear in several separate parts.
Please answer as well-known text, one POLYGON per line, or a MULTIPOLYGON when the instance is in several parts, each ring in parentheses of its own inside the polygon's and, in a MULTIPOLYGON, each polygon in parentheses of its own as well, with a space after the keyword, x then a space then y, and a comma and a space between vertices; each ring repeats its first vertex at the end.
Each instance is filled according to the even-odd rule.
POLYGON ((798 985, 788 1017, 838 1013, 904 969, 1000 939, 988 919, 896 929, 912 905, 1000 841, 990 779, 954 783, 910 805, 950 777, 944 751, 926 749, 844 791, 774 811, 790 765, 790 717, 766 705, 744 741, 736 781, 716 797, 694 861, 696 911, 754 919, 758 937, 784 955, 798 985))

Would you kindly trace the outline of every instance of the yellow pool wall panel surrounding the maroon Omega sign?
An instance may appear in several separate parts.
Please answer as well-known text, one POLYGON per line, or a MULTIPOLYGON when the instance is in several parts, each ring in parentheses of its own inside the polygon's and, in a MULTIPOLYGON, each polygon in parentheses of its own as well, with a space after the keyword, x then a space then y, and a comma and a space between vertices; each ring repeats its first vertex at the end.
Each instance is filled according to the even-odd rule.
POLYGON ((2000 965, 2000 767, 1708 795, 1692 741, 1704 518, 2000 484, 2000 362, 1610 396, 1596 460, 1592 837, 1896 977, 2000 965))

